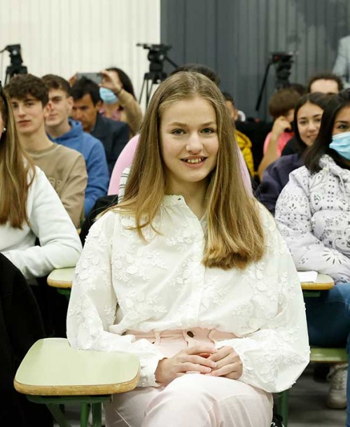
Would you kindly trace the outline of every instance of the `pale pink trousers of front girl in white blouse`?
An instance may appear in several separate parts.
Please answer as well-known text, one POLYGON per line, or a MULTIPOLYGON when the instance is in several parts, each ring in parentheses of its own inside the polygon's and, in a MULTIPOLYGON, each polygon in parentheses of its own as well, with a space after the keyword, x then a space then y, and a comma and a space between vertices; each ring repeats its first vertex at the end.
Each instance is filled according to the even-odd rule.
MULTIPOLYGON (((165 356, 187 346, 234 337, 216 330, 128 331, 146 338, 165 356)), ((272 395, 242 381, 189 373, 166 387, 137 387, 113 395, 106 405, 106 427, 269 427, 272 395)))

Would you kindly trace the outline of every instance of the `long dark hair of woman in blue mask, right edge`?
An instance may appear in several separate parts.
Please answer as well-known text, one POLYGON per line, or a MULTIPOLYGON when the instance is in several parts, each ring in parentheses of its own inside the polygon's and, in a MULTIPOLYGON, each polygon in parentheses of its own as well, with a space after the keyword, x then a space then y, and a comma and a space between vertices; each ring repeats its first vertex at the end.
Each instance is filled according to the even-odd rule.
POLYGON ((320 159, 324 154, 339 162, 339 155, 336 151, 329 148, 332 142, 333 127, 337 113, 345 106, 350 106, 350 89, 344 89, 338 94, 332 95, 330 101, 325 106, 321 120, 320 132, 314 144, 307 150, 304 159, 304 165, 311 172, 318 172, 321 170, 320 159))

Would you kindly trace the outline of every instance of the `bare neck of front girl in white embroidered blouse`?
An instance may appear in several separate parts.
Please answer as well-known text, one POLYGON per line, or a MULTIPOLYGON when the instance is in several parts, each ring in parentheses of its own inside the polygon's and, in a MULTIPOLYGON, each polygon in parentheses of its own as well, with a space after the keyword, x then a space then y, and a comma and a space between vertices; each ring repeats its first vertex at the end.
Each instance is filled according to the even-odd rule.
POLYGON ((186 201, 188 207, 193 211, 193 214, 201 219, 207 210, 207 182, 201 181, 200 183, 192 183, 192 185, 172 186, 167 191, 167 194, 181 195, 186 201))

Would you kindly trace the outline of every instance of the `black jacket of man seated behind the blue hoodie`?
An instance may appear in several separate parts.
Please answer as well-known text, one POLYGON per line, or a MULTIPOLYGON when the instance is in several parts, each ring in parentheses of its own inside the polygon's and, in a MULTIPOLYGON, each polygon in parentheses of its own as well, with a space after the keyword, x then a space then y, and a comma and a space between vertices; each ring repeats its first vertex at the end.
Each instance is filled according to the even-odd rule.
POLYGON ((129 141, 129 126, 124 122, 116 122, 116 120, 111 120, 97 113, 96 123, 90 134, 104 144, 109 176, 111 176, 118 156, 129 141))

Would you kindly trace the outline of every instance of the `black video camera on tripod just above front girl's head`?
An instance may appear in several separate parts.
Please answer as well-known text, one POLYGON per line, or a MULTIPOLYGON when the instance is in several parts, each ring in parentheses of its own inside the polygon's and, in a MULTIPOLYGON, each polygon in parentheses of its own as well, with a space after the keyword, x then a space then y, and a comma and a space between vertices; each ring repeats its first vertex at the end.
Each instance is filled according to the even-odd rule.
POLYGON ((148 73, 144 74, 144 82, 142 83, 141 94, 139 98, 139 104, 141 104, 142 94, 144 93, 146 83, 146 106, 148 106, 153 85, 161 83, 167 78, 167 73, 165 73, 163 70, 164 62, 169 62, 169 64, 172 64, 172 66, 175 68, 177 68, 177 65, 167 56, 168 50, 172 48, 170 45, 165 45, 162 43, 137 43, 137 46, 149 50, 147 59, 150 62, 150 69, 148 73))

